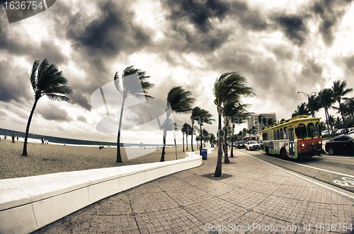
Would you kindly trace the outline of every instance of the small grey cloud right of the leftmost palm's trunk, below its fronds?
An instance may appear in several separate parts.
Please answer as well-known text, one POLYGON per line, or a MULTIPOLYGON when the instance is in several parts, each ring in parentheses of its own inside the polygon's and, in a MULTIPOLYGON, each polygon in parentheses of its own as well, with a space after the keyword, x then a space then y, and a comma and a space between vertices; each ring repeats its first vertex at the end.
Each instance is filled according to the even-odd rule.
MULTIPOLYGON (((58 104, 58 103, 56 103, 58 104)), ((46 106, 38 106, 35 112, 41 115, 44 119, 55 120, 57 122, 72 122, 72 117, 67 114, 67 111, 57 107, 55 104, 50 104, 46 106)))

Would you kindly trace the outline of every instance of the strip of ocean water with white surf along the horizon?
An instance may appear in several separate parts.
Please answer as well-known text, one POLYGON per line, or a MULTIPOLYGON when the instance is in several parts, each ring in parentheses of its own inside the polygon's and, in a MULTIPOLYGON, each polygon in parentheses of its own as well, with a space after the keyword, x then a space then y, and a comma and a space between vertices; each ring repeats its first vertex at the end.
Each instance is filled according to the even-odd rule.
MULTIPOLYGON (((0 129, 0 137, 3 140, 6 136, 6 139, 11 140, 12 135, 15 135, 15 141, 24 141, 25 139, 25 132, 22 131, 13 131, 8 129, 0 129)), ((85 140, 77 140, 77 139, 68 139, 56 136, 46 136, 46 135, 39 135, 39 134, 28 134, 28 142, 30 143, 42 143, 42 138, 45 139, 45 144, 59 144, 59 145, 67 145, 67 146, 109 146, 109 147, 117 147, 117 142, 105 142, 105 141, 85 141, 85 140)), ((150 148, 161 146, 161 144, 127 144, 121 143, 120 147, 132 147, 132 148, 150 148)))

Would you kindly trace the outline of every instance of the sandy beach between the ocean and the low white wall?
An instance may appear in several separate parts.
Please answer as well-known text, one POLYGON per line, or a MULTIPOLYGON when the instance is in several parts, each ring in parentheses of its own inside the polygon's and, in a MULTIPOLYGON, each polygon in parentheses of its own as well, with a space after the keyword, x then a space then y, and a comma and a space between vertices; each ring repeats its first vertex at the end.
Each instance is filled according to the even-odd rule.
MULTIPOLYGON (((198 151, 197 146, 193 146, 198 151)), ((1 139, 0 141, 0 180, 33 175, 45 175, 57 172, 111 168, 122 165, 159 162, 161 148, 139 158, 127 159, 122 148, 123 163, 116 163, 117 148, 59 146, 52 144, 33 144, 27 146, 28 156, 21 156, 23 142, 1 139)), ((142 149, 144 150, 144 149, 142 149)), ((186 152, 191 152, 188 146, 186 152)), ((183 147, 177 147, 177 158, 185 158, 183 147)), ((176 160, 174 147, 166 147, 165 160, 176 160)))

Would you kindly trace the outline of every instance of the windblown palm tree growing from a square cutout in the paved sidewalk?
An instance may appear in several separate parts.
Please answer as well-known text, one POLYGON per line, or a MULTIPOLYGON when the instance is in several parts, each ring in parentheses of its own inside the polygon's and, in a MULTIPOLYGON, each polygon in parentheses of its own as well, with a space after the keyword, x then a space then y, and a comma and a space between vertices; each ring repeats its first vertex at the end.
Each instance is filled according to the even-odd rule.
POLYGON ((240 95, 254 95, 252 88, 246 86, 246 78, 237 72, 228 72, 222 74, 214 83, 213 93, 214 103, 217 105, 218 114, 218 136, 217 136, 217 167, 215 168, 215 177, 222 176, 222 141, 220 131, 222 129, 222 108, 229 101, 238 100, 240 95))

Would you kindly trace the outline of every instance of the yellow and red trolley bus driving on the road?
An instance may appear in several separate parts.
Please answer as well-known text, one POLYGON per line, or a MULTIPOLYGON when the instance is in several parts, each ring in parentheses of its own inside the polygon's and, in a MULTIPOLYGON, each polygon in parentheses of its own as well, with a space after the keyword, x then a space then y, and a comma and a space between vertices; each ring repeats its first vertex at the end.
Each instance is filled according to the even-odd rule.
POLYGON ((281 158, 304 158, 321 156, 321 118, 298 115, 260 131, 263 142, 261 149, 281 158))

